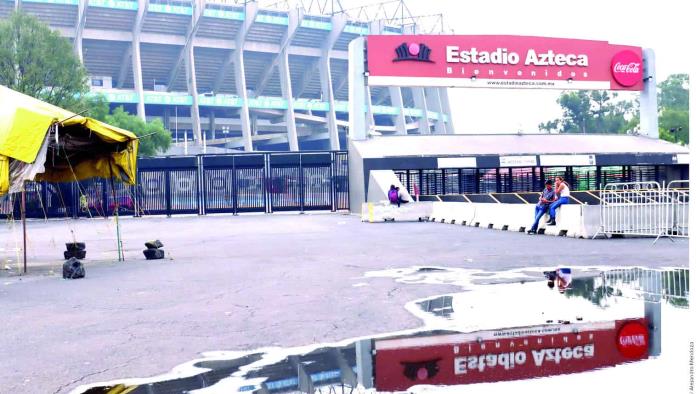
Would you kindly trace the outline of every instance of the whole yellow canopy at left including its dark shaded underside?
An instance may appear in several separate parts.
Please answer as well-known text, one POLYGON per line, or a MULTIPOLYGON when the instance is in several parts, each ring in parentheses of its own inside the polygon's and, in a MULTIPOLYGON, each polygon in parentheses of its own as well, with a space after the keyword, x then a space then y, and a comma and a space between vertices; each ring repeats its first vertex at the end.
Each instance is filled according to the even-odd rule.
POLYGON ((0 86, 0 195, 25 180, 135 184, 137 155, 130 131, 0 86))

